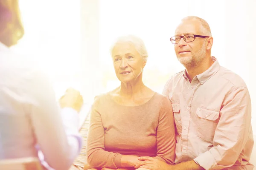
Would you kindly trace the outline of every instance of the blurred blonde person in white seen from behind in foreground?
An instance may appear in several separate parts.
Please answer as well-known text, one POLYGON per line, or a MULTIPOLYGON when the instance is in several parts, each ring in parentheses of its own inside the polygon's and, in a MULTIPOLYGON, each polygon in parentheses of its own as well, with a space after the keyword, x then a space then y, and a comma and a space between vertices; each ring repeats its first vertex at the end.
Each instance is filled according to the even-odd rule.
MULTIPOLYGON (((17 0, 0 0, 0 160, 38 157, 67 170, 81 150, 78 112, 83 99, 68 89, 60 99, 35 62, 15 54, 24 30, 17 0)), ((35 55, 36 57, 36 55, 35 55)))

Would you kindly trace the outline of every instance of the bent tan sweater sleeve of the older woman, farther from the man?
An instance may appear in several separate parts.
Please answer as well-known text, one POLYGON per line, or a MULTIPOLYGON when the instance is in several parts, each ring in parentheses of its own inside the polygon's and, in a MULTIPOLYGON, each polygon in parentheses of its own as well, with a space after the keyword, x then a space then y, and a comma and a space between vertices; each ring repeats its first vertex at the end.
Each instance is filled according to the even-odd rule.
POLYGON ((87 137, 87 163, 93 167, 110 167, 117 169, 121 167, 120 153, 105 151, 105 130, 102 125, 100 113, 97 111, 99 98, 96 98, 90 117, 90 127, 87 137))

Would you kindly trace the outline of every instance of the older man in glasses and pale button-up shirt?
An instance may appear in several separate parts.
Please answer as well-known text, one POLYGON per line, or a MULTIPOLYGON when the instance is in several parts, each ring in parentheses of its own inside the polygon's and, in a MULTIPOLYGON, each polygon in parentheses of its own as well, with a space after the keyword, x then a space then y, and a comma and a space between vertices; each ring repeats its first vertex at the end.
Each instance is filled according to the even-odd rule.
POLYGON ((175 117, 176 165, 141 157, 138 167, 253 170, 250 95, 243 79, 211 56, 208 23, 199 17, 183 18, 171 42, 186 68, 173 75, 163 91, 175 117))

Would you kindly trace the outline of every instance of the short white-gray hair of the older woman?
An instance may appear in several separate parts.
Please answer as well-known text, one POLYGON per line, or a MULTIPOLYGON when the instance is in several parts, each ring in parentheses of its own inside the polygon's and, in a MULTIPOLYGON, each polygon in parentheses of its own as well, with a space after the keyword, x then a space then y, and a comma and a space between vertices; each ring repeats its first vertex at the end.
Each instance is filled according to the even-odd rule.
POLYGON ((128 42, 132 45, 134 45, 135 49, 137 50, 137 52, 140 54, 140 56, 142 57, 142 59, 147 62, 148 59, 148 51, 145 47, 145 44, 143 42, 143 40, 141 40, 139 37, 136 37, 134 35, 127 35, 127 36, 122 36, 119 37, 116 42, 114 43, 114 45, 111 47, 111 56, 113 53, 113 48, 119 44, 119 43, 123 43, 123 42, 128 42))

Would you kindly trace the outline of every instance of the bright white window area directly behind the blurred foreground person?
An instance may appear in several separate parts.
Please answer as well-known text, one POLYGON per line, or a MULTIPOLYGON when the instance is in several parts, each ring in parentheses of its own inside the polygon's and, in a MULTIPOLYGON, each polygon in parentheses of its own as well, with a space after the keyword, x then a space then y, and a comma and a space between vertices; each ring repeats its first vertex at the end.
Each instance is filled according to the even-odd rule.
POLYGON ((79 0, 19 0, 24 37, 12 47, 29 55, 51 76, 56 96, 80 87, 79 0))

